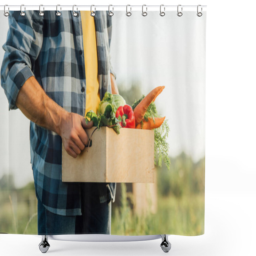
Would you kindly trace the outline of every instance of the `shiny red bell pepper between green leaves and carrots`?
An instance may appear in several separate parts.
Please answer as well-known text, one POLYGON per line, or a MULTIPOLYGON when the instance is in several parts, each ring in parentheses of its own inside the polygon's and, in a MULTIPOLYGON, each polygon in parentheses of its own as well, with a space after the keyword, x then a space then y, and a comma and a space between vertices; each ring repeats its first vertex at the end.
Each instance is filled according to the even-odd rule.
POLYGON ((122 127, 135 128, 135 117, 131 106, 124 105, 117 108, 116 118, 119 116, 122 118, 122 121, 120 122, 122 127))

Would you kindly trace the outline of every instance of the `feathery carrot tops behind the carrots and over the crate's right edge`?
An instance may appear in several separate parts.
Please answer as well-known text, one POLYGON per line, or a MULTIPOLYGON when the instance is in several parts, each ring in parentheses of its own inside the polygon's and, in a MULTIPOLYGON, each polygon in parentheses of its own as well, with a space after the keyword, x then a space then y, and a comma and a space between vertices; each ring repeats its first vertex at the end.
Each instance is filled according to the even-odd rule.
MULTIPOLYGON (((145 98, 145 95, 142 95, 142 97, 135 101, 132 104, 132 110, 136 108, 136 106, 140 103, 141 100, 145 98)), ((153 118, 155 121, 155 117, 160 117, 156 110, 156 104, 155 102, 151 102, 148 106, 148 109, 144 115, 144 119, 148 121, 148 118, 153 118)), ((141 121, 141 126, 143 126, 143 121, 141 121)), ((170 131, 170 127, 167 123, 167 120, 164 121, 164 123, 159 127, 154 129, 154 135, 155 135, 155 164, 158 164, 158 166, 162 166, 162 161, 166 165, 167 169, 170 169, 170 158, 168 157, 168 151, 169 151, 169 144, 167 143, 168 134, 170 131)))

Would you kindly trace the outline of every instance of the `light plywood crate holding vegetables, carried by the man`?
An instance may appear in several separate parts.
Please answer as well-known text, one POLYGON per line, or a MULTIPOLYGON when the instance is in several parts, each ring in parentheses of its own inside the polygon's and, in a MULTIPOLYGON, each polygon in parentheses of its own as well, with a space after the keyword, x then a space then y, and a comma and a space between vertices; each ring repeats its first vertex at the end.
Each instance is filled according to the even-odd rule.
MULTIPOLYGON (((95 127, 86 130, 89 138, 95 127)), ((62 181, 154 183, 154 131, 101 127, 76 158, 62 144, 62 181)))

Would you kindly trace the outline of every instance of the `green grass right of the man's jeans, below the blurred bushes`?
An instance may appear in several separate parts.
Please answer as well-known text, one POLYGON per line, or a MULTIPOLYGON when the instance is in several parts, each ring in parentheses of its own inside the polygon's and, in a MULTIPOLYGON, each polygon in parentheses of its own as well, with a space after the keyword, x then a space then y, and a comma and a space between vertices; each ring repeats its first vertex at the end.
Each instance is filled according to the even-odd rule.
MULTIPOLYGON (((123 188, 124 189, 124 188, 123 188)), ((122 198, 112 213, 111 234, 196 236, 204 234, 204 194, 158 198, 156 214, 136 215, 122 198)))

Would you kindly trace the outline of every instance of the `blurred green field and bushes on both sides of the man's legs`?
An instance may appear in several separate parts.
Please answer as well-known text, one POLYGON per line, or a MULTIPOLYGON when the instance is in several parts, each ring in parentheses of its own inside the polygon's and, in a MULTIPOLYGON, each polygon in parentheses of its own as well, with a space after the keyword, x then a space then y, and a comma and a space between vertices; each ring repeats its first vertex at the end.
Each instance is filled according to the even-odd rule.
MULTIPOLYGON (((34 183, 16 189, 12 177, 0 180, 0 232, 37 234, 37 199, 34 183)), ((120 204, 112 205, 111 234, 195 236, 204 233, 204 158, 194 163, 184 153, 171 158, 171 169, 157 170, 157 212, 136 214, 126 184, 120 204), (166 232, 165 232, 166 231, 166 232)))

